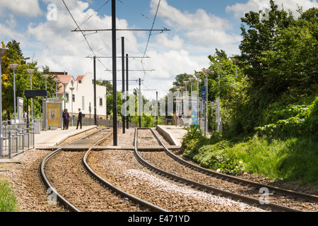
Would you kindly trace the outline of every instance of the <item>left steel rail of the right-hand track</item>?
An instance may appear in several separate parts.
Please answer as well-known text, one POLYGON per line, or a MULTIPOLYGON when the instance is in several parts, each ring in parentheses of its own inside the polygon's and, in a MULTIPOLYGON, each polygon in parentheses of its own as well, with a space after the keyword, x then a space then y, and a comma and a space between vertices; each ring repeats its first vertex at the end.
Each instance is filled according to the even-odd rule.
MULTIPOLYGON (((214 195, 219 195, 219 196, 224 196, 225 198, 230 198, 234 201, 242 201, 244 203, 247 203, 251 206, 257 206, 259 208, 262 208, 262 209, 265 209, 265 210, 272 210, 272 211, 277 211, 277 212, 302 212, 301 210, 296 210, 294 208, 288 208, 288 207, 285 207, 285 206, 280 206, 280 205, 277 205, 277 204, 274 204, 274 203, 264 203, 264 204, 261 204, 260 205, 260 201, 256 198, 250 198, 250 197, 247 197, 247 196, 242 196, 240 194, 235 194, 235 193, 232 193, 230 191, 224 191, 224 190, 221 190, 221 189, 217 189, 213 186, 208 186, 206 184, 201 184, 199 182, 194 182, 190 179, 186 179, 184 177, 179 177, 175 174, 172 174, 170 172, 166 172, 165 170, 163 169, 159 169, 158 167, 155 167, 153 165, 151 165, 149 162, 147 162, 146 160, 143 159, 143 157, 141 157, 141 155, 139 155, 139 152, 138 152, 138 147, 137 147, 137 133, 138 133, 138 129, 139 128, 136 128, 136 132, 135 132, 135 140, 134 140, 134 148, 135 148, 135 155, 137 157, 137 159, 139 160, 139 162, 141 162, 142 165, 145 165, 146 167, 148 167, 149 169, 152 169, 154 170, 155 172, 158 172, 158 174, 161 174, 169 179, 172 179, 172 180, 177 180, 179 182, 182 182, 186 185, 189 185, 189 186, 192 186, 192 187, 195 187, 196 189, 200 189, 200 190, 203 190, 203 191, 206 191, 206 192, 210 192, 211 194, 214 194, 214 195)), ((145 129, 145 128, 142 128, 142 129, 145 129)), ((151 128, 148 128, 151 130, 151 132, 154 134, 154 136, 156 138, 158 138, 158 136, 155 134, 155 132, 153 131, 153 129, 151 128)), ((158 138, 159 141, 160 138, 158 138)), ((160 142, 161 144, 162 141, 160 142)), ((163 147, 166 149, 167 147, 165 145, 163 145, 163 147)))

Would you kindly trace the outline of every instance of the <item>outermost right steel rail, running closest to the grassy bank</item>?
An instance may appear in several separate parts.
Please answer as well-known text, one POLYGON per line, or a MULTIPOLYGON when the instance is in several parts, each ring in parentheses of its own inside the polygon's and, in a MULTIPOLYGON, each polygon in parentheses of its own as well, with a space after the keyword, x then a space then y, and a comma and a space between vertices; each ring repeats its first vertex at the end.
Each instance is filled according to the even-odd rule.
MULTIPOLYGON (((157 134, 155 134, 155 136, 157 136, 157 134)), ((157 136, 158 137, 158 136, 157 136)), ((310 194, 304 194, 304 193, 300 193, 297 191, 291 191, 291 190, 287 190, 287 189, 281 189, 278 188, 276 186, 271 186, 271 185, 267 185, 267 184, 260 184, 257 182, 252 182, 246 179, 242 179, 239 177, 234 177, 228 174, 223 174, 220 172, 216 172, 213 171, 211 169, 206 169, 204 167, 200 167, 198 165, 194 165, 191 162, 188 162, 187 160, 183 160, 182 158, 178 157, 177 155, 175 155, 174 153, 172 153, 169 148, 167 148, 167 146, 159 139, 159 142, 161 143, 161 145, 163 145, 164 147, 164 151, 167 155, 169 155, 170 157, 172 157, 174 160, 176 160, 177 162, 181 163, 182 165, 185 165, 189 168, 192 168, 196 171, 202 172, 204 174, 210 175, 211 177, 216 177, 217 179, 223 179, 226 180, 228 182, 232 182, 235 184, 242 184, 242 185, 250 185, 250 186, 254 186, 257 189, 266 187, 267 189, 269 189, 270 192, 274 192, 276 194, 279 195, 285 195, 285 196, 290 196, 290 197, 295 197, 295 198, 300 198, 302 200, 305 201, 313 201, 313 202, 318 202, 318 196, 314 196, 314 195, 310 195, 310 194)))

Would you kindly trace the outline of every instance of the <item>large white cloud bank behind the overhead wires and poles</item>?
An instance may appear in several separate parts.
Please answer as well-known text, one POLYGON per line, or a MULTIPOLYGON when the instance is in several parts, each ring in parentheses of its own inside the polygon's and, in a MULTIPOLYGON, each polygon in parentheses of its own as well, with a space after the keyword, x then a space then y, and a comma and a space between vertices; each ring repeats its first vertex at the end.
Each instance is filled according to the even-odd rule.
MULTIPOLYGON (((8 25, 0 23, 1 33, 4 30, 7 37, 21 42, 21 46, 27 48, 30 54, 35 52, 34 58, 38 60, 37 66, 40 69, 41 66, 47 65, 52 71, 67 71, 73 76, 93 72, 92 59, 86 59, 93 54, 81 32, 71 32, 76 29, 76 24, 66 11, 63 2, 41 1, 57 5, 56 21, 45 20, 47 11, 43 8, 42 23, 29 23, 27 32, 19 33, 14 28, 8 28, 8 25)), ((111 17, 95 13, 88 2, 78 0, 65 2, 78 25, 94 15, 81 25, 81 29, 111 28, 111 17)), ((151 1, 151 4, 156 8, 158 1, 151 1)), ((167 25, 172 27, 172 31, 151 36, 146 52, 151 58, 144 59, 143 65, 140 59, 129 59, 129 69, 155 71, 146 72, 146 75, 143 71, 131 71, 129 78, 144 77, 144 84, 148 88, 160 90, 162 94, 172 87, 172 82, 178 74, 193 74, 194 70, 199 71, 207 67, 209 63, 207 56, 215 52, 215 47, 233 49, 235 42, 239 40, 237 35, 227 32, 232 29, 228 20, 208 14, 202 9, 197 10, 196 13, 182 12, 169 6, 166 0, 162 0, 158 17, 163 18, 167 25)), ((14 25, 14 20, 11 21, 14 25)), ((117 27, 128 28, 128 23, 126 20, 117 19, 117 27)), ((1 33, 0 38, 3 38, 4 35, 1 36, 1 33)), ((145 34, 146 32, 117 32, 117 54, 121 53, 120 37, 124 36, 126 52, 130 56, 142 56, 148 38, 145 34)), ((99 57, 112 55, 111 32, 86 32, 85 37, 99 57)), ((100 61, 103 65, 97 61, 98 78, 112 80, 112 73, 105 71, 112 69, 112 59, 100 59, 100 61)), ((117 60, 117 69, 121 69, 120 59, 117 60)), ((121 76, 122 73, 119 71, 117 78, 120 79, 121 76)), ((118 85, 120 89, 121 84, 118 85)))

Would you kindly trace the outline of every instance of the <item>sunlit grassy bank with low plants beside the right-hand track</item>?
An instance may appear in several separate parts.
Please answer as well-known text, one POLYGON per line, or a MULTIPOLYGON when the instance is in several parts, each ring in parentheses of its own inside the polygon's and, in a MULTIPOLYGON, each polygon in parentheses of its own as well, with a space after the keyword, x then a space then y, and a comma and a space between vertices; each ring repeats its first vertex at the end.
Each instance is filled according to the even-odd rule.
POLYGON ((316 140, 314 136, 284 140, 254 136, 248 141, 218 141, 200 148, 187 148, 184 156, 203 167, 220 169, 228 174, 249 172, 275 181, 300 181, 317 186, 316 140))

